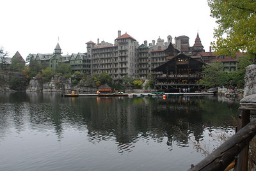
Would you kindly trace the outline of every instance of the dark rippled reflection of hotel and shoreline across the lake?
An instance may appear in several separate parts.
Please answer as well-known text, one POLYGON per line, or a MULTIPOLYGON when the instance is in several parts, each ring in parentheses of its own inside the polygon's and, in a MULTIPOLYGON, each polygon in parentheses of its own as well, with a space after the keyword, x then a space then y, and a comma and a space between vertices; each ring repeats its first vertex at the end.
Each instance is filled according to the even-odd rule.
MULTIPOLYGON (((164 143, 187 147, 189 137, 204 138, 205 128, 232 128, 236 100, 173 96, 163 98, 63 98, 58 93, 3 93, 0 95, 0 138, 11 128, 54 131, 58 141, 68 128, 88 131, 88 141, 115 141, 119 153, 136 143, 164 143), (221 102, 221 103, 220 103, 221 102)), ((1 141, 1 139, 0 139, 1 141)))

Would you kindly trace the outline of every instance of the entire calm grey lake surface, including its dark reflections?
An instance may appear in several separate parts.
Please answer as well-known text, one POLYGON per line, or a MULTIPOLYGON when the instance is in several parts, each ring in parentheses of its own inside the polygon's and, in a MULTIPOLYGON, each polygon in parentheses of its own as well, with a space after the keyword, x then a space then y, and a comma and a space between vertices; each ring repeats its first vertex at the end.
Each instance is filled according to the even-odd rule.
POLYGON ((188 170, 234 133, 238 101, 0 94, 0 170, 188 170))

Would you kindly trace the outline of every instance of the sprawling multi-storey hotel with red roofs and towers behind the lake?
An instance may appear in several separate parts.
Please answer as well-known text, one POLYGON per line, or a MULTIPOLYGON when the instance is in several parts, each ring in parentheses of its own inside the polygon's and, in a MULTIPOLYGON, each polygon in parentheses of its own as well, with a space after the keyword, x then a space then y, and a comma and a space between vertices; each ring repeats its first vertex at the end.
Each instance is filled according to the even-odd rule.
MULTIPOLYGON (((66 63, 70 64, 73 72, 79 71, 87 75, 106 72, 111 75, 113 80, 120 80, 125 76, 147 79, 150 74, 154 78, 161 78, 158 80, 161 84, 163 84, 163 75, 168 77, 168 81, 172 84, 191 82, 193 77, 200 75, 198 67, 213 61, 221 61, 225 71, 234 71, 237 67, 236 58, 215 55, 211 52, 211 47, 209 52, 205 52, 199 34, 197 34, 192 47, 189 46, 188 36, 175 37, 174 43, 172 36, 167 36, 165 42, 158 38, 157 41, 152 40, 152 43, 144 41, 139 45, 135 38, 127 33, 121 34, 121 31, 118 31, 114 44, 100 42, 98 39, 97 43, 88 41, 86 46, 87 52, 62 56, 58 43, 54 54, 34 54, 32 56, 43 66, 49 66, 54 72, 61 63, 66 63), (181 63, 185 65, 181 66, 181 63), (168 68, 168 71, 163 67, 168 68), (176 76, 175 79, 173 79, 173 75, 176 76), (183 81, 177 80, 177 75, 182 77, 188 75, 188 78, 183 81)), ((241 55, 242 53, 239 53, 237 57, 241 55)), ((198 76, 198 78, 200 77, 198 76)), ((193 80, 193 82, 196 81, 198 80, 193 80)))

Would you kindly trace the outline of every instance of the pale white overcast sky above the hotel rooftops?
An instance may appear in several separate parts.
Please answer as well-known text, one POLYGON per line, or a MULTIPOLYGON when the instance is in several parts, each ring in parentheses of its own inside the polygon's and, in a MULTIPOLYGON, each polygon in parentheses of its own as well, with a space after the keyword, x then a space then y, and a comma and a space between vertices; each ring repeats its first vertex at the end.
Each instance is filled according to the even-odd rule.
POLYGON ((2 0, 0 46, 26 59, 54 52, 59 42, 66 55, 86 52, 97 38, 114 43, 120 30, 140 45, 186 35, 193 46, 199 33, 208 52, 217 27, 210 12, 207 0, 2 0))

